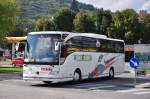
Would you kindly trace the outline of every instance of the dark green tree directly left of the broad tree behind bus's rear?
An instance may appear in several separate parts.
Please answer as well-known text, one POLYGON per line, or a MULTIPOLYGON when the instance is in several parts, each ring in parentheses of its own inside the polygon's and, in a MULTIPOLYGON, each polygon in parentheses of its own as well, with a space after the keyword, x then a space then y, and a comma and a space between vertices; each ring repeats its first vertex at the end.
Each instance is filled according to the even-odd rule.
POLYGON ((96 33, 108 35, 108 28, 112 23, 111 12, 109 10, 97 9, 92 16, 96 26, 96 33))

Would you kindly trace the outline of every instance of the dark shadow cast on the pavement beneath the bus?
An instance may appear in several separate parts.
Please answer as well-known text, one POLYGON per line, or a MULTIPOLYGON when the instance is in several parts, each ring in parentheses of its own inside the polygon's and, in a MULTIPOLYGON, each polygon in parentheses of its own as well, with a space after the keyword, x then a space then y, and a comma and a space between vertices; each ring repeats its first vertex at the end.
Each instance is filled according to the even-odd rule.
MULTIPOLYGON (((137 85, 141 83, 150 82, 150 79, 138 79, 137 85)), ((48 88, 70 88, 70 89, 86 89, 86 90, 107 90, 107 91, 117 91, 117 90, 128 90, 133 89, 134 79, 133 78, 115 78, 113 80, 107 77, 99 79, 88 79, 82 80, 80 82, 63 82, 55 84, 34 84, 34 87, 48 87, 48 88)))

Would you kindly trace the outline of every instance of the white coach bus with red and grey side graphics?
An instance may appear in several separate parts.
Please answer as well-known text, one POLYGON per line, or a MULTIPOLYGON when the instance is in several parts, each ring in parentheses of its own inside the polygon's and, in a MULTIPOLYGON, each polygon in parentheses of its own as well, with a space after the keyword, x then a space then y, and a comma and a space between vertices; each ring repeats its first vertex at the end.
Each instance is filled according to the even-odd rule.
POLYGON ((24 80, 79 81, 124 72, 124 41, 92 33, 31 32, 27 36, 24 80))

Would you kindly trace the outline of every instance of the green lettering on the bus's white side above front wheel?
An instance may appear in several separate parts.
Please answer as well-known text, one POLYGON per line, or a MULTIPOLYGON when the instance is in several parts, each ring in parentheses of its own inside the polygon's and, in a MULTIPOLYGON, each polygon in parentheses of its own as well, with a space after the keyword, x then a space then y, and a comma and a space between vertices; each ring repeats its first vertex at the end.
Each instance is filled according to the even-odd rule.
POLYGON ((76 61, 91 61, 91 55, 74 55, 74 60, 76 61))

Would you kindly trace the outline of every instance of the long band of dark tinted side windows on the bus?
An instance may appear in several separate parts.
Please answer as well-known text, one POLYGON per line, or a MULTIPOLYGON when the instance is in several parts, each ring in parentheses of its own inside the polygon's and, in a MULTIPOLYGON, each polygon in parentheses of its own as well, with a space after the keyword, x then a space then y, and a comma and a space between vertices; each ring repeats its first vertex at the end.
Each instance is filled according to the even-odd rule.
POLYGON ((124 43, 107 39, 77 36, 66 42, 67 52, 124 53, 124 43))

